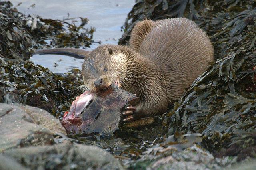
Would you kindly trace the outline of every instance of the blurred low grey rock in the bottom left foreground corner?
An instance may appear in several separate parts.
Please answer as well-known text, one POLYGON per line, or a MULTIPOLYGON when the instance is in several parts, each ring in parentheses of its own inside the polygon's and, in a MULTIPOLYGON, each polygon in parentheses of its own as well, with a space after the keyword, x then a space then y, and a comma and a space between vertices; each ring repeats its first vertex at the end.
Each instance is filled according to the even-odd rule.
MULTIPOLYGON (((123 169, 110 153, 96 146, 82 144, 30 146, 5 151, 1 156, 12 158, 16 160, 15 163, 19 162, 20 167, 29 169, 123 169)), ((0 164, 0 169, 12 167, 10 164, 12 162, 0 164)))

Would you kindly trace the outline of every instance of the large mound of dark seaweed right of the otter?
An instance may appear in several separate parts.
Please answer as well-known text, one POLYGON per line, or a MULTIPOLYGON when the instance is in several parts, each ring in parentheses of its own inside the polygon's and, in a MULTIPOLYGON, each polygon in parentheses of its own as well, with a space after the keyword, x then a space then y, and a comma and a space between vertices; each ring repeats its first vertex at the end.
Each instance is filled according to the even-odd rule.
POLYGON ((252 110, 256 99, 250 90, 254 86, 255 63, 255 54, 241 51, 216 61, 183 96, 170 126, 176 127, 174 131, 204 134, 204 145, 212 150, 236 142, 254 144, 245 142, 255 133, 252 110), (243 133, 244 138, 240 138, 243 133))

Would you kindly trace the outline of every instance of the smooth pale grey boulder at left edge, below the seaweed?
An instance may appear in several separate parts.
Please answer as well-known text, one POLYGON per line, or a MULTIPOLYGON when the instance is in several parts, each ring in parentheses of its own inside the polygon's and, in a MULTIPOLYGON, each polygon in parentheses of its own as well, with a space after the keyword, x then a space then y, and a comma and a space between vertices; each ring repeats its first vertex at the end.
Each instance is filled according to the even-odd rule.
POLYGON ((54 144, 66 134, 58 119, 37 107, 0 103, 0 152, 10 148, 54 144))

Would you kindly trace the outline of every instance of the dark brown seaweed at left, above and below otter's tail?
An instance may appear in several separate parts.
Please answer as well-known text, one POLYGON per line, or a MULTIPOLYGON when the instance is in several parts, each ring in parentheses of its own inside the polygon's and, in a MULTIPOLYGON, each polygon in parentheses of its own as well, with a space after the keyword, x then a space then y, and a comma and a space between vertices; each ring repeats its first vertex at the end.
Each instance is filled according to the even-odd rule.
POLYGON ((52 20, 24 15, 9 1, 0 1, 0 11, 0 102, 28 104, 61 117, 80 93, 76 87, 82 85, 81 72, 57 75, 24 60, 43 47, 89 47, 95 29, 84 28, 88 19, 82 17, 52 20))

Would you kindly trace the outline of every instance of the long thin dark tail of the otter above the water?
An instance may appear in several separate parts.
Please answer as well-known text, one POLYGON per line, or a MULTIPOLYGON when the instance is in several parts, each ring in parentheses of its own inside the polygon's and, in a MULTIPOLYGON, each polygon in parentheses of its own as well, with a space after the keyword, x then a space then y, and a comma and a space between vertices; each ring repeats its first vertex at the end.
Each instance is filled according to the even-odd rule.
POLYGON ((55 49, 42 49, 36 51, 34 54, 44 55, 44 54, 56 54, 56 55, 66 55, 78 59, 84 59, 90 51, 85 51, 84 49, 76 48, 55 48, 55 49))

